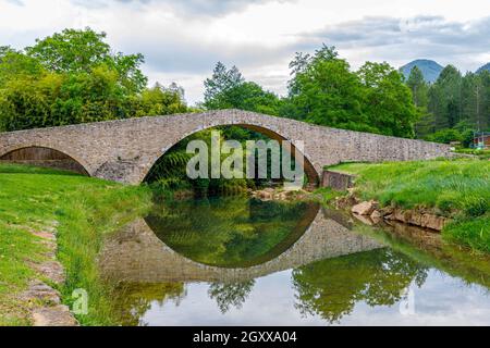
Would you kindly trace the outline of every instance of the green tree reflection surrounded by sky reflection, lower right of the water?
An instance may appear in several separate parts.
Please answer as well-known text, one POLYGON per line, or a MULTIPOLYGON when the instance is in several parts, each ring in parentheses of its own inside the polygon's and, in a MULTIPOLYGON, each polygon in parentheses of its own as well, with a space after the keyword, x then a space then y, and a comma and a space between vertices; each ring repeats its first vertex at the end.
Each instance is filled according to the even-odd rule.
POLYGON ((391 249, 359 252, 315 262, 293 271, 296 309, 330 323, 350 314, 357 302, 390 306, 412 283, 420 287, 428 268, 391 249))

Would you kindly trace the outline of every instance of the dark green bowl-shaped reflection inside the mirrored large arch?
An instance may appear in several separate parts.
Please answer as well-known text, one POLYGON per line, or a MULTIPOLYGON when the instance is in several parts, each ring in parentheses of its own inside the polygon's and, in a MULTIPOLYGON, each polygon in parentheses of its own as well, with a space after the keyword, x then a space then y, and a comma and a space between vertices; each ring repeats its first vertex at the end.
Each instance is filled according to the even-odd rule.
POLYGON ((159 206, 145 220, 158 238, 191 260, 245 268, 287 250, 318 210, 313 202, 212 198, 159 206))

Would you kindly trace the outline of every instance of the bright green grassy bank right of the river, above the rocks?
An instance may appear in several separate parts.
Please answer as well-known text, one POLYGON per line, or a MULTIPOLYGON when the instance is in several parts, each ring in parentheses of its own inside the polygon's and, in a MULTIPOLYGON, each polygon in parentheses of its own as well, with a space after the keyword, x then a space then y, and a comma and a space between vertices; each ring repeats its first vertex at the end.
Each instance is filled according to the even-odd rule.
POLYGON ((356 194, 364 200, 452 217, 442 231, 445 239, 490 252, 489 161, 345 163, 329 169, 357 175, 356 194))

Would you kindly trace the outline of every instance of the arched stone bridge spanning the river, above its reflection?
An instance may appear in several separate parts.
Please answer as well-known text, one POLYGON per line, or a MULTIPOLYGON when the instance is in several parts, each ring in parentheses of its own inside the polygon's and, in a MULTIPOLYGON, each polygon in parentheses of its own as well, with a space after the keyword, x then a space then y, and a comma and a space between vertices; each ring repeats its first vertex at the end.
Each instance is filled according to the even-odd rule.
POLYGON ((450 147, 317 126, 240 110, 148 116, 0 133, 0 161, 63 166, 100 178, 138 184, 173 145, 206 128, 240 125, 270 138, 304 142, 305 173, 346 161, 405 161, 449 157, 450 147))

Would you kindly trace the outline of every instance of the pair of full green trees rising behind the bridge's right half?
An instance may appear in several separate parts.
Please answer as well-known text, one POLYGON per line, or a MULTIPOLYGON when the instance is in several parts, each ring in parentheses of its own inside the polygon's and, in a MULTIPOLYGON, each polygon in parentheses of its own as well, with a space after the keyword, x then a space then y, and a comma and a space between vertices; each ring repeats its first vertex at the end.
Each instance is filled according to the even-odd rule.
POLYGON ((402 75, 387 63, 367 62, 353 73, 334 47, 296 53, 289 98, 280 114, 319 125, 414 136, 418 117, 402 75))

